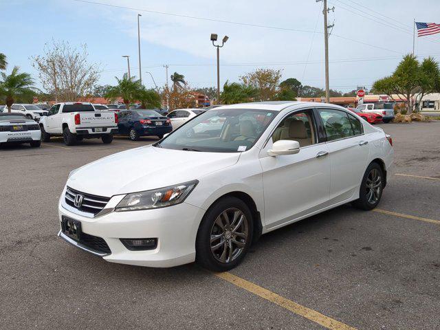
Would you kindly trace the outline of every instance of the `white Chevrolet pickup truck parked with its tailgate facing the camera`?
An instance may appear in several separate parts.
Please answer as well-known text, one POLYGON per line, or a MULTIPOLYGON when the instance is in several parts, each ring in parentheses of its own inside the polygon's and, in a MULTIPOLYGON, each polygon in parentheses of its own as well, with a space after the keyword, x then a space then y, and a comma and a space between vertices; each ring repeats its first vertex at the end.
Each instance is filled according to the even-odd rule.
POLYGON ((89 102, 64 102, 54 104, 39 124, 43 142, 49 142, 52 135, 63 135, 67 146, 93 138, 111 143, 113 133, 118 131, 118 115, 111 111, 95 111, 89 102))

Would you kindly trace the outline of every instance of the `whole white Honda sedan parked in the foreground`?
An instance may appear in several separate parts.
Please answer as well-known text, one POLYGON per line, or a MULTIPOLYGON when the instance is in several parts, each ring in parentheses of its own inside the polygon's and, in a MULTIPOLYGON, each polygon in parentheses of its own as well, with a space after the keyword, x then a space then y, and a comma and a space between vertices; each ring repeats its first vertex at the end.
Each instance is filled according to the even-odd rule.
POLYGON ((217 107, 73 170, 59 236, 114 263, 230 270, 261 234, 344 203, 375 208, 392 164, 391 137, 336 105, 217 107), (198 129, 212 118, 223 124, 198 129))

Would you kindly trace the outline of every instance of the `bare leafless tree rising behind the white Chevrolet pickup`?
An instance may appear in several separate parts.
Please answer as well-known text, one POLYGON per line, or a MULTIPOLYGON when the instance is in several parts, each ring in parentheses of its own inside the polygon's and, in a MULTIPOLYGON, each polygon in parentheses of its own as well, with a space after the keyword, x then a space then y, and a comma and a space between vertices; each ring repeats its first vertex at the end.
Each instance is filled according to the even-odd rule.
POLYGON ((44 54, 32 56, 41 85, 54 94, 56 102, 76 101, 90 94, 100 78, 100 64, 87 61, 87 45, 77 50, 66 41, 45 44, 44 54))

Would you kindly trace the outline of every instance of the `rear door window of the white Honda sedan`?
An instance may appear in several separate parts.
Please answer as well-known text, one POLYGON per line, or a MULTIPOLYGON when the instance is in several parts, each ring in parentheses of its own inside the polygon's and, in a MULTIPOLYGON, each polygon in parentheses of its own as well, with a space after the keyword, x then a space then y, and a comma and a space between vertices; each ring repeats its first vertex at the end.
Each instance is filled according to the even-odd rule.
POLYGON ((354 135, 349 115, 345 111, 318 109, 318 113, 324 124, 327 141, 344 139, 354 135))

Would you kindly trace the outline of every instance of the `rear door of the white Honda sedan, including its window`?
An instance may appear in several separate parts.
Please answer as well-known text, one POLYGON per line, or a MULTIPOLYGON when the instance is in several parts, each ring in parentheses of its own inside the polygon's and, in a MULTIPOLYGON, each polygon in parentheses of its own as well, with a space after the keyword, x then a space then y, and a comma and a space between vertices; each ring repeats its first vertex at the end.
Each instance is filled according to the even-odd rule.
POLYGON ((322 121, 331 166, 330 203, 349 199, 359 189, 369 158, 362 122, 339 109, 316 109, 322 121))

